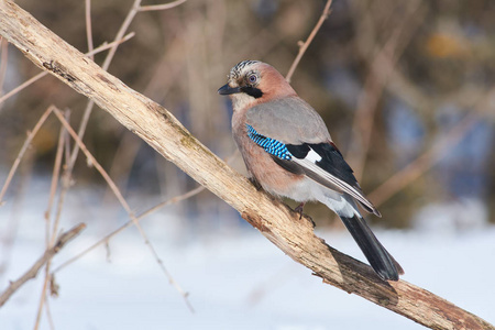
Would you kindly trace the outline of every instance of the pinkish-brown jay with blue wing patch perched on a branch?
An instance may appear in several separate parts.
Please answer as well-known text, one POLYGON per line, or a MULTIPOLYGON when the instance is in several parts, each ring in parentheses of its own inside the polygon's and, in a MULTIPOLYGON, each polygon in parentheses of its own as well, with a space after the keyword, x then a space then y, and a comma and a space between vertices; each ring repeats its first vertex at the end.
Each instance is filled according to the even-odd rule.
POLYGON ((232 101, 232 135, 249 175, 266 193, 300 202, 319 201, 336 212, 375 273, 398 280, 402 266, 360 212, 382 217, 364 196, 318 112, 270 64, 242 61, 218 89, 232 101))

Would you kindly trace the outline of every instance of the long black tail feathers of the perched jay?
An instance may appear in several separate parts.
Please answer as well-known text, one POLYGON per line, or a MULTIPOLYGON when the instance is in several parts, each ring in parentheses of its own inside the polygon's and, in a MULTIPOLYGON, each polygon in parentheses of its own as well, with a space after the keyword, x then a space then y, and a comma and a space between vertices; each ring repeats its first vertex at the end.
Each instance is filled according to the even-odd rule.
POLYGON ((404 274, 403 267, 378 242, 366 221, 359 216, 353 218, 340 216, 340 219, 360 245, 376 274, 385 280, 398 280, 399 274, 404 274))

